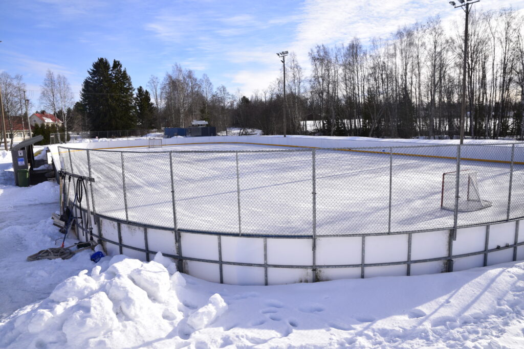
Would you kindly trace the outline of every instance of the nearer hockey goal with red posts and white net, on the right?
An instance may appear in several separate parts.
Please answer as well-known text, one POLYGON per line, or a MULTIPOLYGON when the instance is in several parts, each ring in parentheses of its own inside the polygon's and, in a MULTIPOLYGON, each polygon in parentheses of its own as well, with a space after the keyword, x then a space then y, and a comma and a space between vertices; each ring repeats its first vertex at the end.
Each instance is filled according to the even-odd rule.
POLYGON ((483 200, 478 188, 477 173, 470 170, 460 172, 446 172, 442 174, 442 197, 440 207, 446 210, 455 210, 455 187, 459 179, 459 212, 482 210, 492 206, 493 202, 483 200))

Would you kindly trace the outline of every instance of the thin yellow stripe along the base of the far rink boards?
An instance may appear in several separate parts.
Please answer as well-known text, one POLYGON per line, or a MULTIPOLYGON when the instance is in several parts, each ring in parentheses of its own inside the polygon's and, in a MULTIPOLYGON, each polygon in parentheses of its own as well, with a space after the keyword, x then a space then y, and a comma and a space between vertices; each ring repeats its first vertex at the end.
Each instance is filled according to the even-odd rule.
MULTIPOLYGON (((324 149, 321 147, 308 147, 307 145, 285 145, 285 144, 267 144, 267 143, 251 143, 251 142, 197 142, 197 143, 178 143, 178 144, 165 144, 162 147, 175 147, 176 145, 192 145, 192 144, 253 144, 253 145, 268 145, 270 147, 290 147, 290 148, 309 148, 309 149, 324 149)), ((490 144, 492 145, 492 144, 490 144)), ((93 148, 92 150, 105 150, 105 149, 125 149, 125 148, 144 148, 149 147, 148 145, 131 145, 130 147, 110 147, 110 148, 93 148)), ((422 148, 423 146, 421 146, 422 148)), ((387 147, 390 148, 390 147, 387 147)), ((83 149, 75 149, 71 151, 81 151, 83 149)), ((85 149, 88 150, 88 149, 85 149)), ((348 151, 355 153, 372 153, 372 154, 389 154, 389 152, 373 151, 373 150, 354 150, 354 149, 337 149, 337 151, 348 151)), ((60 153, 60 152, 59 152, 60 153)), ((64 153, 64 152, 62 152, 64 153)), ((56 153, 54 153, 56 154, 56 153)), ((439 155, 423 155, 423 154, 407 154, 407 153, 392 153, 392 155, 400 156, 419 156, 419 157, 432 157, 434 159, 448 159, 456 160, 454 156, 439 156, 439 155)), ((470 157, 461 157, 462 161, 479 161, 479 162, 493 162, 499 164, 511 164, 511 161, 504 160, 487 160, 487 159, 474 159, 470 157)), ((515 161, 516 165, 524 165, 524 162, 515 161)))

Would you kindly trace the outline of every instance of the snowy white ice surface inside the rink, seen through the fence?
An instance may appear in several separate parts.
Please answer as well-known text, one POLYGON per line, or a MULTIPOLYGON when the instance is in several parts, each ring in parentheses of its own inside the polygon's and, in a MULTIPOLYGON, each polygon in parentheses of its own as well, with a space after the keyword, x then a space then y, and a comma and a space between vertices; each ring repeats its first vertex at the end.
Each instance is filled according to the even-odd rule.
MULTIPOLYGON (((279 149, 286 148, 181 144, 117 149, 130 151, 124 155, 129 220, 173 226, 169 153, 150 153, 172 150, 177 152, 173 153, 173 178, 178 227, 237 233, 235 153, 178 151, 265 150, 268 152, 238 154, 242 233, 311 235, 311 152, 271 152, 279 149)), ((449 151, 447 155, 454 156, 454 147, 445 150, 449 151)), ((73 172, 88 175, 86 152, 72 151, 71 156, 73 172)), ((91 151, 90 156, 96 211, 125 219, 121 153, 91 151)), ((317 150, 315 163, 318 235, 388 231, 389 155, 317 150)), ((69 161, 65 161, 65 167, 70 167, 69 161)), ((395 155, 391 231, 452 227, 453 212, 441 209, 440 205, 442 174, 455 168, 454 160, 395 155)), ((460 212, 459 226, 505 220, 509 165, 463 161, 462 170, 466 168, 477 172, 481 198, 492 201, 493 206, 460 212)), ((524 166, 515 165, 510 218, 521 216, 524 216, 524 166)))

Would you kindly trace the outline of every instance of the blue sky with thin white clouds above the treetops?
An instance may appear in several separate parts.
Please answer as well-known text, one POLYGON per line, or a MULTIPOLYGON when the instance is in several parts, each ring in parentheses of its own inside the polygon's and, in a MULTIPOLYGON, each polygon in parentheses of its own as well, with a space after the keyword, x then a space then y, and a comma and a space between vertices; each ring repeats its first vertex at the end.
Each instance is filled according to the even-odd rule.
MULTIPOLYGON (((508 5, 482 0, 483 9, 508 5)), ((524 0, 511 5, 524 8, 524 0)), ((22 74, 34 109, 47 69, 68 77, 78 98, 99 57, 117 59, 133 86, 160 79, 174 63, 208 74, 250 95, 279 75, 276 52, 297 53, 309 67, 315 44, 386 37, 397 28, 440 15, 463 16, 447 0, 111 1, 3 0, 0 4, 0 71, 22 74)))

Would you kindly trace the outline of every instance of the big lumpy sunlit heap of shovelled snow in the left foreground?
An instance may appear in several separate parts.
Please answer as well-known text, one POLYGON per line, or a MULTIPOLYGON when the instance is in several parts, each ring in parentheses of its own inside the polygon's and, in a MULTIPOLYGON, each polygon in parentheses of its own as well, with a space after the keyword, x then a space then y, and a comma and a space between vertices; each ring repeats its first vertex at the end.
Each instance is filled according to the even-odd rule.
POLYGON ((199 309, 185 307, 178 296, 184 286, 174 263, 160 253, 149 263, 105 257, 0 325, 0 346, 138 345, 167 337, 173 328, 187 336, 227 310, 218 294, 199 309))

